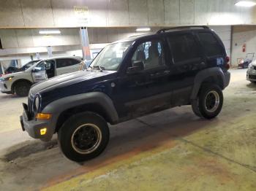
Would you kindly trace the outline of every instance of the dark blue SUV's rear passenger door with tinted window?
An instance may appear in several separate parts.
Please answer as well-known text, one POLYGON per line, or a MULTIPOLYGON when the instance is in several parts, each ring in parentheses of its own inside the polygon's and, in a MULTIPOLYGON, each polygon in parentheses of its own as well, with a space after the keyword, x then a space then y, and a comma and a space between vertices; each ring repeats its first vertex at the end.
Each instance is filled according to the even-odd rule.
POLYGON ((171 34, 167 42, 172 55, 173 106, 189 104, 195 75, 206 68, 200 44, 192 33, 171 34))

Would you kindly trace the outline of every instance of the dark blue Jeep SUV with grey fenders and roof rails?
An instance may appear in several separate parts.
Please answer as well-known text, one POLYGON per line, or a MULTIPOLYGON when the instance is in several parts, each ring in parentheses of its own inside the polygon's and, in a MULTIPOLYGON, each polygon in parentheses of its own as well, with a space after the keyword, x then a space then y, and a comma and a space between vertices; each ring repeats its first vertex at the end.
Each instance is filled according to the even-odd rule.
POLYGON ((35 139, 58 133, 70 160, 89 160, 107 146, 108 123, 183 105, 199 117, 216 117, 230 82, 228 61, 207 26, 132 36, 106 46, 85 71, 34 85, 20 122, 35 139))

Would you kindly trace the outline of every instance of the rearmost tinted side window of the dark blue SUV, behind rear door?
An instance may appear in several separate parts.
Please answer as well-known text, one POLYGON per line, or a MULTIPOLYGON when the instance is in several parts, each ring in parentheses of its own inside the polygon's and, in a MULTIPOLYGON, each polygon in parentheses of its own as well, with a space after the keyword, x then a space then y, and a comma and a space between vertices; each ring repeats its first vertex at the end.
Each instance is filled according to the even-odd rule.
POLYGON ((199 33, 200 42, 208 57, 223 55, 223 48, 211 33, 199 33))

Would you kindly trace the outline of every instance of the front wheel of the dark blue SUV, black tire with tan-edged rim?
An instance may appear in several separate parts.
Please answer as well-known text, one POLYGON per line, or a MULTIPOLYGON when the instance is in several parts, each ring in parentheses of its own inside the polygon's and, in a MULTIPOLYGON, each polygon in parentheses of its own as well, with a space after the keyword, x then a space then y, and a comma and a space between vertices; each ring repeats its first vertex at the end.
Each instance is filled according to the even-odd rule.
POLYGON ((109 136, 108 124, 103 117, 93 112, 83 112, 64 122, 58 132, 58 141, 64 155, 80 163, 101 154, 108 144, 109 136))

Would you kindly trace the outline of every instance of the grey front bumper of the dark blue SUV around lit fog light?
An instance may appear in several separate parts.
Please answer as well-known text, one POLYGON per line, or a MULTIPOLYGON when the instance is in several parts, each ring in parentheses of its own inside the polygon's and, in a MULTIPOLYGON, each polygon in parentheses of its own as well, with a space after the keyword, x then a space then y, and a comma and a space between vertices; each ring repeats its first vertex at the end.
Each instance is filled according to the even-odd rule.
POLYGON ((20 116, 20 124, 23 131, 29 133, 34 139, 41 139, 42 141, 50 141, 53 137, 53 127, 52 122, 50 120, 37 120, 37 119, 29 119, 28 110, 26 104, 23 104, 23 114, 20 116), (45 135, 40 134, 40 130, 42 128, 46 128, 45 135))

